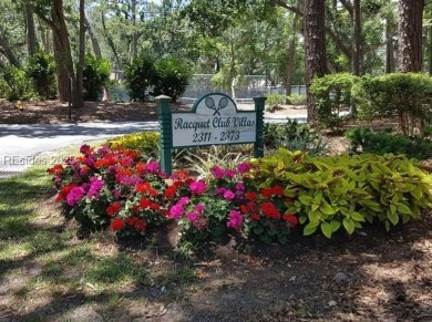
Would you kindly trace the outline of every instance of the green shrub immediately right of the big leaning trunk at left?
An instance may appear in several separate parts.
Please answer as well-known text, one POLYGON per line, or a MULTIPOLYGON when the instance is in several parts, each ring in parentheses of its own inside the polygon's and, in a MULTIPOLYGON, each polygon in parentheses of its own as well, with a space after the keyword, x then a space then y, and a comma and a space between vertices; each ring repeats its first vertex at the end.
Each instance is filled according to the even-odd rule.
POLYGON ((105 59, 86 54, 83 69, 84 100, 96 101, 99 94, 110 82, 111 64, 105 59))

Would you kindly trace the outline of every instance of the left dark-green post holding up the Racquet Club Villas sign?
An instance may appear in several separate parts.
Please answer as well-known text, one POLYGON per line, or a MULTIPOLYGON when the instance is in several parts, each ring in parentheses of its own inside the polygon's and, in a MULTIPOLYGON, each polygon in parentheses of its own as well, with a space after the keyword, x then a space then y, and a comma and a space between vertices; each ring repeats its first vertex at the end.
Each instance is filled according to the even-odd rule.
POLYGON ((171 156, 173 148, 173 128, 169 110, 171 97, 160 95, 155 97, 155 100, 157 103, 161 125, 161 169, 169 176, 173 173, 173 162, 171 156))

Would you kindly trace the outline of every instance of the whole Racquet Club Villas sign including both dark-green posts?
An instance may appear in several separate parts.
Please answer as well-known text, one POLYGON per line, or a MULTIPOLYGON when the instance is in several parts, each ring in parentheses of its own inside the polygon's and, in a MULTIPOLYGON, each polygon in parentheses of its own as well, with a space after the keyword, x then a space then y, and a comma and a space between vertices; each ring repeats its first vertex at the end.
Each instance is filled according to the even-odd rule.
POLYGON ((266 97, 255 97, 255 111, 238 111, 222 93, 196 101, 191 112, 169 111, 167 96, 157 96, 161 123, 161 166, 172 173, 172 148, 254 143, 255 156, 264 154, 263 126, 266 97))

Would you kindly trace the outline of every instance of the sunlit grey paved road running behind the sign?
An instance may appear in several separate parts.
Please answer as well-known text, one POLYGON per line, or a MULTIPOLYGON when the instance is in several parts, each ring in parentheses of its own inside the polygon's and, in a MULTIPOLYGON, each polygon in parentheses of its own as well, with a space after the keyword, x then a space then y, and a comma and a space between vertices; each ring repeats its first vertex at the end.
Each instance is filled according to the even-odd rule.
MULTIPOLYGON (((299 114, 291 117, 299 122, 306 122, 306 115, 299 114)), ((285 118, 280 117, 266 117, 265 121, 271 123, 286 122, 285 118)), ((0 124, 0 178, 21 173, 31 165, 47 163, 47 154, 60 147, 81 144, 86 141, 104 139, 131 132, 158 131, 158 128, 157 122, 0 124)))

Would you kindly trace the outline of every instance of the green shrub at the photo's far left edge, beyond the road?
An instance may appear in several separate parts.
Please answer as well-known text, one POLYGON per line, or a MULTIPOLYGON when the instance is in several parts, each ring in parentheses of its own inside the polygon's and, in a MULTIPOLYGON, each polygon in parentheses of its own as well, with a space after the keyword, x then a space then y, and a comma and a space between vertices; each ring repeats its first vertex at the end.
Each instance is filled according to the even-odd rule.
POLYGON ((35 93, 32 81, 23 70, 8 66, 0 79, 0 95, 8 101, 28 101, 34 97, 35 93))

